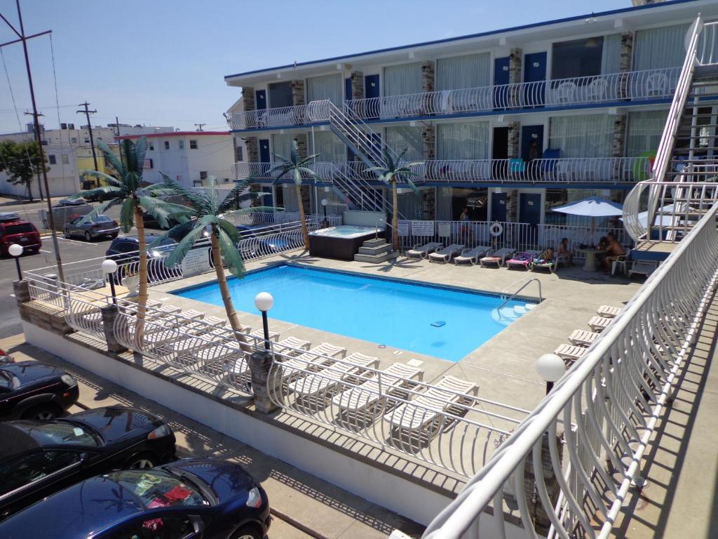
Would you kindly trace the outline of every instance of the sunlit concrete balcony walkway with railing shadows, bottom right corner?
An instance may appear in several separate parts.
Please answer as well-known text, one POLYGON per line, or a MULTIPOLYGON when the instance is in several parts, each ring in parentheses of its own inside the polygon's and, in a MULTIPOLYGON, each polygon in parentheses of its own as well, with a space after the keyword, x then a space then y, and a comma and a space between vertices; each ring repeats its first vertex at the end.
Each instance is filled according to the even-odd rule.
POLYGON ((646 452, 648 484, 623 507, 620 538, 718 538, 718 299, 714 296, 673 405, 646 452))

